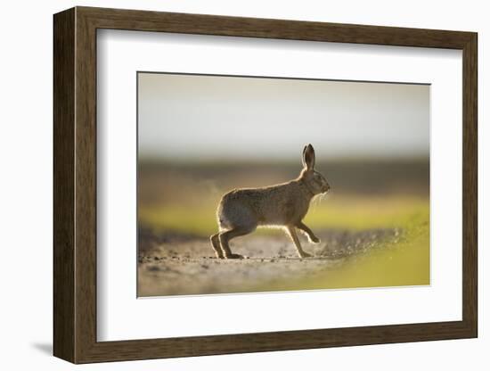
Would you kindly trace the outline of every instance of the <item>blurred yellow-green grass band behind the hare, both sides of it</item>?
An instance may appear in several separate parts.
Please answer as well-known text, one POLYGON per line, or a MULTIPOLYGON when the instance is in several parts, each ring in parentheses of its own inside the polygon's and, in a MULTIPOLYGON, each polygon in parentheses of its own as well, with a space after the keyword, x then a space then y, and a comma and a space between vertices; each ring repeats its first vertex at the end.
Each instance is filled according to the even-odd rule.
MULTIPOLYGON (((165 205, 140 207, 139 221, 153 230, 172 230, 193 235, 216 232, 214 200, 197 206, 165 205)), ((417 197, 332 197, 312 204, 306 215, 306 225, 312 229, 341 228, 362 230, 370 228, 406 227, 417 215, 429 218, 429 202, 417 197)))

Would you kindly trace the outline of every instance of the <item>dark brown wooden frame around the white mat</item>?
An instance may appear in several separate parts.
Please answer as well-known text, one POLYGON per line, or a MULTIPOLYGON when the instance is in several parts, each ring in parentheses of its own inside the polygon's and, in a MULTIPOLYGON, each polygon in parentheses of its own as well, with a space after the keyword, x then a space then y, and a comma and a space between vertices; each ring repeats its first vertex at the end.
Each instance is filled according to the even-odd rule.
POLYGON ((477 34, 76 7, 54 15, 53 353, 73 363, 477 337, 477 34), (96 31, 449 48, 462 51, 462 320, 97 342, 96 31))

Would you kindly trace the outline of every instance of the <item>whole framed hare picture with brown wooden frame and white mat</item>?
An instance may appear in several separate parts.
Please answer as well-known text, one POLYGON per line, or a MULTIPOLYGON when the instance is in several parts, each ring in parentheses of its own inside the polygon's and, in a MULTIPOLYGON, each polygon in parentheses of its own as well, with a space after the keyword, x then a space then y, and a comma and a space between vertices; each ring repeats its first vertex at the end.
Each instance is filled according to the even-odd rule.
POLYGON ((54 15, 53 353, 477 337, 477 34, 54 15))

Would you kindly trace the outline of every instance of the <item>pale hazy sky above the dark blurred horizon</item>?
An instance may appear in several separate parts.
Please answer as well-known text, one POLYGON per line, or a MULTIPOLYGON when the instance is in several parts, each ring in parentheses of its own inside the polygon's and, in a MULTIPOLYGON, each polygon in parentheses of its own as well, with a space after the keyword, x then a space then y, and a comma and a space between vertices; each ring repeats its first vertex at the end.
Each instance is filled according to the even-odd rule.
POLYGON ((138 73, 141 160, 429 156, 428 85, 138 73))

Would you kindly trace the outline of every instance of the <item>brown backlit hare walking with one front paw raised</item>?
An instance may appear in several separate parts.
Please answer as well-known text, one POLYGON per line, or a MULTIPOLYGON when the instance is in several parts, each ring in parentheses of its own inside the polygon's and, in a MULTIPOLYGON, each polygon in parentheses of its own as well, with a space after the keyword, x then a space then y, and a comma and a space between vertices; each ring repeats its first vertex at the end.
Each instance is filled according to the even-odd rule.
POLYGON ((301 221, 306 216, 310 201, 316 194, 326 194, 330 189, 327 179, 314 170, 314 148, 305 146, 302 155, 303 169, 299 176, 287 183, 260 188, 241 188, 225 194, 216 210, 219 232, 210 240, 216 257, 242 259, 230 250, 230 240, 249 235, 257 227, 284 227, 296 246, 299 258, 311 257, 303 251, 296 228, 306 234, 311 243, 320 240, 301 221))

